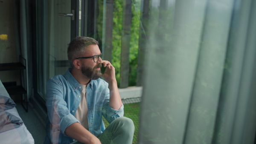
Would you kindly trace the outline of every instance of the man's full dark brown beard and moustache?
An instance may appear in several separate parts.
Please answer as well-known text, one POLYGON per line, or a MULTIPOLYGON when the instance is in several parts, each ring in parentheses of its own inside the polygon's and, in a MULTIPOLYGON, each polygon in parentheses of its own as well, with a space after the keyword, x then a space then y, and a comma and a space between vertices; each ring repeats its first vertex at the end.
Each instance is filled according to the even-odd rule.
POLYGON ((81 72, 84 76, 86 76, 90 80, 96 80, 102 76, 101 71, 96 70, 96 68, 99 68, 101 66, 102 66, 101 63, 99 63, 98 65, 94 66, 93 69, 91 69, 88 66, 84 66, 84 63, 83 63, 81 66, 81 72))

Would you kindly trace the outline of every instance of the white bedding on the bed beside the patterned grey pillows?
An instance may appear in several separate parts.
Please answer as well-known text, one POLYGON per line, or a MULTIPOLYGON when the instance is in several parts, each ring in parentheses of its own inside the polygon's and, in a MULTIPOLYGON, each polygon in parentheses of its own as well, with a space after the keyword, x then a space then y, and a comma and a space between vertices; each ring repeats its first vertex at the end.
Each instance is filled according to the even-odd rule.
MULTIPOLYGON (((10 98, 1 80, 0 80, 0 95, 7 96, 10 98)), ((12 115, 15 115, 18 118, 20 118, 20 115, 18 114, 17 109, 15 107, 12 109, 6 110, 6 112, 9 112, 12 115)), ((23 123, 20 127, 0 133, 0 143, 1 144, 34 144, 35 141, 31 133, 27 130, 25 124, 23 123)))

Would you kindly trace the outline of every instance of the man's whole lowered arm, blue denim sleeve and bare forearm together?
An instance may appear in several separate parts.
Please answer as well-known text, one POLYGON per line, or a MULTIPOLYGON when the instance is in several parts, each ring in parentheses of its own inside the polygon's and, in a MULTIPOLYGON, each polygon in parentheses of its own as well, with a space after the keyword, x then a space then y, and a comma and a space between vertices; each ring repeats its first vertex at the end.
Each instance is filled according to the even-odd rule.
MULTIPOLYGON (((47 82, 47 113, 52 126, 65 135, 76 139, 84 144, 101 144, 99 139, 86 130, 78 120, 69 112, 63 98, 61 83, 57 80, 47 82), (69 125, 68 127, 66 127, 69 125)), ((51 138, 51 141, 58 141, 58 135, 51 138)))

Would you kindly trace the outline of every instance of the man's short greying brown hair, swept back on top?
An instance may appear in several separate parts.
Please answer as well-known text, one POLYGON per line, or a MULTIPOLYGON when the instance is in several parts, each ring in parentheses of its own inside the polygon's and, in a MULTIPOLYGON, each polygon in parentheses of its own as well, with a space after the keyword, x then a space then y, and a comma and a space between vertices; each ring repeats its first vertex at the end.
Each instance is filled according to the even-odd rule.
POLYGON ((98 44, 98 41, 91 37, 75 37, 68 44, 67 58, 72 68, 74 67, 73 60, 82 57, 82 54, 86 51, 86 48, 92 44, 98 44))

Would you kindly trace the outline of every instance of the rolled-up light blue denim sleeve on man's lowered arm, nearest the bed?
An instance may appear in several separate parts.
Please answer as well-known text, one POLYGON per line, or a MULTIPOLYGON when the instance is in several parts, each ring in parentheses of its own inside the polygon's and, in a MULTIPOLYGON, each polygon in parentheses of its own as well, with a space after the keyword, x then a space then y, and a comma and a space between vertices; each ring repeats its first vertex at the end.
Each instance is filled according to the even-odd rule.
MULTIPOLYGON (((52 133, 60 131, 65 135, 68 126, 79 122, 67 108, 67 103, 64 101, 63 86, 58 80, 50 79, 47 82, 46 107, 49 121, 52 124, 52 133)), ((54 134, 52 135, 54 137, 54 134)), ((55 136, 58 137, 58 135, 55 136)))

